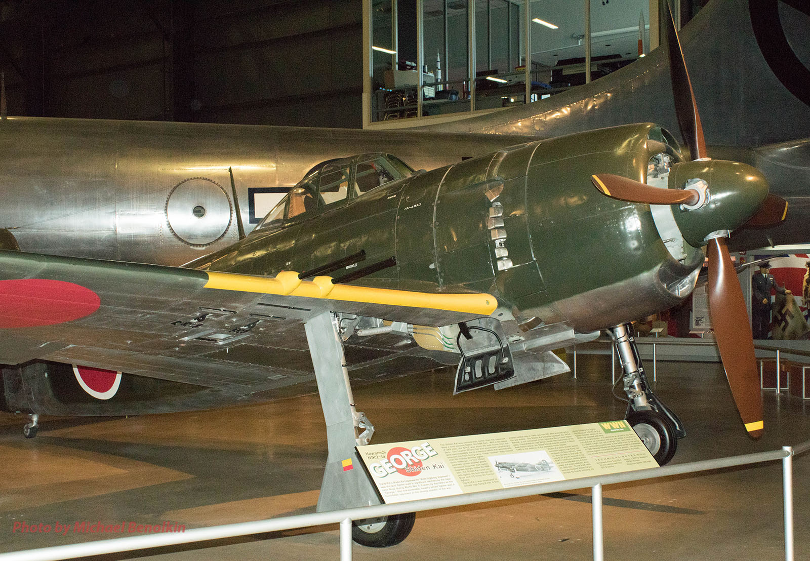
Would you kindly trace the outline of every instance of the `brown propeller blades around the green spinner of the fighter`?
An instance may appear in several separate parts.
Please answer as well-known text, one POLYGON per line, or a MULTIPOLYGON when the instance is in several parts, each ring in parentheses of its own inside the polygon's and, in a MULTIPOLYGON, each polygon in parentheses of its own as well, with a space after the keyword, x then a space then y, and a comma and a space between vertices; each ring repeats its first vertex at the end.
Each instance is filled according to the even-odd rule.
MULTIPOLYGON (((680 49, 675 22, 672 19, 668 2, 662 2, 662 4, 667 5, 669 15, 665 41, 669 51, 672 89, 675 95, 678 122, 684 139, 689 145, 693 160, 706 160, 707 164, 710 164, 706 154, 706 143, 703 139, 701 118, 697 113, 697 103, 689 80, 689 72, 686 70, 684 54, 680 49)), ((727 162, 727 164, 731 163, 727 162)), ((725 168, 730 169, 729 166, 725 166, 725 168)), ((720 169, 719 166, 718 169, 720 169)), ((709 184, 708 200, 710 201, 712 184, 711 181, 708 181, 711 179, 709 175, 707 173, 706 177, 701 178, 709 184)), ((728 177, 730 176, 727 175, 726 179, 728 177)), ((747 306, 726 243, 729 230, 741 225, 742 221, 734 226, 727 224, 728 221, 723 220, 722 212, 718 212, 717 208, 713 208, 722 206, 722 201, 719 205, 706 205, 706 191, 701 192, 689 187, 685 189, 660 189, 610 173, 595 174, 591 176, 591 179, 599 191, 614 199, 633 203, 680 204, 684 205, 684 212, 697 212, 706 216, 709 216, 711 212, 717 213, 715 231, 702 233, 701 237, 705 236, 705 238, 701 239, 697 244, 693 243, 693 245, 700 245, 700 242, 707 245, 706 253, 709 259, 707 293, 714 335, 720 350, 720 357, 723 359, 723 366, 726 369, 728 383, 731 386, 731 395, 734 397, 737 409, 740 411, 740 417, 743 420, 745 429, 748 430, 749 435, 757 438, 762 434, 763 422, 762 399, 756 359, 754 358, 753 337, 748 320, 747 306)), ((735 185, 735 188, 739 186, 739 193, 744 193, 746 188, 750 186, 745 184, 747 180, 753 182, 757 179, 753 177, 734 179, 739 184, 735 185)), ((741 198, 744 199, 744 196, 741 198)), ((723 199, 723 196, 720 199, 723 199)), ((757 199, 757 204, 760 200, 757 199)), ((775 195, 770 195, 761 203, 759 210, 754 204, 750 208, 750 212, 743 218, 743 221, 745 218, 749 218, 746 225, 752 227, 774 225, 784 220, 786 212, 787 203, 775 195)))

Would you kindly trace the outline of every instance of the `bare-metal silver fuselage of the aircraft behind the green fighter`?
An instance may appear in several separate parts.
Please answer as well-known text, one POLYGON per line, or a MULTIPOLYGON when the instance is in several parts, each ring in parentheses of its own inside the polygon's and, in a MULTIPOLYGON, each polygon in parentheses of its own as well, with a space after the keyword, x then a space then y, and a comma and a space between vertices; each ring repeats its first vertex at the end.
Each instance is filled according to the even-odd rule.
POLYGON ((179 265, 237 240, 232 180, 249 232, 309 169, 331 158, 388 152, 415 169, 435 169, 526 141, 6 118, 0 120, 0 228, 9 229, 23 251, 179 265))

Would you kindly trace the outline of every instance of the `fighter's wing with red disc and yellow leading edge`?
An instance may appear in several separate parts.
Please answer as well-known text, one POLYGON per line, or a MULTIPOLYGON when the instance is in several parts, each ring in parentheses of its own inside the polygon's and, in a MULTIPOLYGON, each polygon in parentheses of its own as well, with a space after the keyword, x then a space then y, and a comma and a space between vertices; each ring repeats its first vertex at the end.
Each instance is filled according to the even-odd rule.
MULTIPOLYGON (((83 364, 231 396, 315 391, 304 322, 325 310, 441 326, 496 307, 496 298, 481 293, 0 251, 0 362, 83 364)), ((386 358, 360 346, 346 353, 360 364, 386 358)), ((362 378, 363 369, 356 372, 362 378)))

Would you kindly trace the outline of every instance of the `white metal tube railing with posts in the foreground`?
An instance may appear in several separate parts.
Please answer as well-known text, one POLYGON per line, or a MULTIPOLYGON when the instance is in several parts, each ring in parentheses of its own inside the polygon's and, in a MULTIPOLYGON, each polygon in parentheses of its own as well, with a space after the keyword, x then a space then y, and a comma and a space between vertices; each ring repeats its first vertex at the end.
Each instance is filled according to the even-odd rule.
POLYGON ((308 528, 327 524, 340 525, 340 559, 352 559, 352 520, 392 516, 404 512, 421 512, 438 508, 487 503, 505 499, 515 499, 531 495, 544 495, 566 490, 590 487, 593 509, 594 559, 603 561, 602 535, 602 486, 667 477, 683 473, 696 473, 710 469, 730 468, 737 465, 759 464, 782 460, 782 487, 785 515, 785 559, 794 561, 793 553, 793 465, 792 458, 810 450, 810 440, 793 448, 757 452, 744 456, 728 456, 714 460, 693 461, 688 464, 665 465, 661 468, 639 469, 632 472, 612 473, 598 477, 582 477, 560 482, 539 483, 509 489, 481 491, 467 495, 452 495, 436 499, 420 499, 407 503, 380 504, 371 507, 348 508, 331 512, 313 512, 299 516, 284 516, 269 520, 241 522, 220 526, 195 528, 183 533, 155 533, 147 536, 117 537, 96 542, 75 543, 65 546, 43 547, 36 550, 12 551, 0 554, 0 561, 49 561, 53 559, 75 559, 87 555, 104 555, 122 551, 142 550, 147 547, 175 546, 181 543, 207 542, 224 537, 247 536, 254 533, 279 532, 281 530, 308 528))

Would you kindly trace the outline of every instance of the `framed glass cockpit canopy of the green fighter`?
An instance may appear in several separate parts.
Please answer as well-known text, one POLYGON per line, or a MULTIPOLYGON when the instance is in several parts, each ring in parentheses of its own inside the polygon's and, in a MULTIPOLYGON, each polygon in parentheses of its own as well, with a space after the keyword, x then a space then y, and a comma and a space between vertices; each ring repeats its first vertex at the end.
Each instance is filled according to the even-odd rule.
POLYGON ((352 201, 374 188, 407 178, 413 169, 396 156, 373 152, 327 160, 309 170, 256 229, 274 228, 307 213, 352 201))

